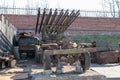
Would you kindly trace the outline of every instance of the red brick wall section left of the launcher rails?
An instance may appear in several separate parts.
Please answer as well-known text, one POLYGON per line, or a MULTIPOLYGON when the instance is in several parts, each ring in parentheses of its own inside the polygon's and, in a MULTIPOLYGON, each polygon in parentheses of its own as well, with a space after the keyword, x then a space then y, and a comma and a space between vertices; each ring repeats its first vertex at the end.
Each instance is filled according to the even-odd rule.
POLYGON ((37 17, 34 15, 4 15, 18 29, 35 28, 37 17))

